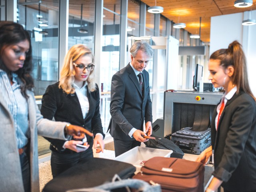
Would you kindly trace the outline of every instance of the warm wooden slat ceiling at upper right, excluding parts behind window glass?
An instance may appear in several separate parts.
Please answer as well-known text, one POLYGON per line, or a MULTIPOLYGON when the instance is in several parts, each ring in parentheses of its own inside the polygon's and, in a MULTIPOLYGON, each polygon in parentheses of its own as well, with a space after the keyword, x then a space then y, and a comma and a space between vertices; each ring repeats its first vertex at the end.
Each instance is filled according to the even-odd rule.
MULTIPOLYGON (((234 14, 256 10, 256 1, 248 8, 234 7, 235 0, 141 0, 148 6, 162 6, 161 14, 174 23, 186 23, 191 34, 199 34, 201 20, 201 40, 210 42, 210 24, 212 16, 234 14)), ((248 19, 248 18, 245 18, 248 19)), ((256 19, 256 18, 253 18, 256 19)), ((235 22, 235 21, 234 21, 235 22)))

